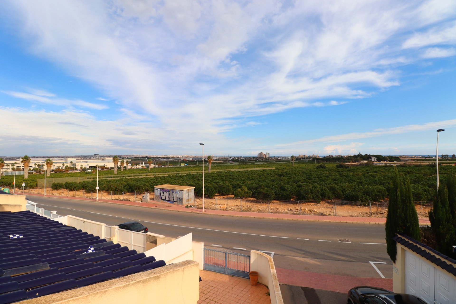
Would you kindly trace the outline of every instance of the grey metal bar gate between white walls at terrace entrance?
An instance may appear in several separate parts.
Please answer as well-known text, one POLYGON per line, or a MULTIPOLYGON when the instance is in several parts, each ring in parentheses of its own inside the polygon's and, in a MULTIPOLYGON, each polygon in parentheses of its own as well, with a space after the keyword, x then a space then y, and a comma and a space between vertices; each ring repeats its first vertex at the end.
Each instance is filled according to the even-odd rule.
POLYGON ((249 278, 250 256, 229 250, 204 248, 204 269, 249 278))

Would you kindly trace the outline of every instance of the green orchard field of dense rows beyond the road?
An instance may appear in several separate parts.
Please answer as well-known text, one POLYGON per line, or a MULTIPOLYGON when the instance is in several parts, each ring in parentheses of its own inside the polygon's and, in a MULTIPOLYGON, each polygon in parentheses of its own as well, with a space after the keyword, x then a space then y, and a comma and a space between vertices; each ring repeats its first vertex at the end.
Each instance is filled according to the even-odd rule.
MULTIPOLYGON (((381 201, 388 197, 393 166, 341 164, 312 164, 307 162, 212 165, 212 173, 205 173, 205 195, 234 194, 244 189, 244 196, 262 199, 321 200, 339 198, 349 201, 381 201), (271 170, 245 170, 268 168, 271 170), (272 169, 274 168, 274 169, 272 169), (240 170, 244 169, 244 170, 240 170)), ((432 201, 435 191, 435 165, 396 166, 400 175, 409 178, 415 201, 432 201)), ((205 166, 207 170, 207 166, 205 166)), ((202 195, 201 166, 164 167, 100 171, 99 186, 104 191, 153 192, 155 185, 174 184, 195 186, 197 196, 202 195), (153 176, 145 177, 145 174, 153 176), (137 178, 132 178, 137 177, 137 178)), ((452 166, 439 166, 440 179, 455 173, 452 166)), ((26 187, 36 187, 37 178, 44 175, 29 175, 26 187)), ((95 178, 95 174, 57 173, 52 178, 95 178)), ((2 176, 0 185, 11 186, 13 176, 2 176)), ((22 176, 16 176, 16 185, 22 184, 22 176)), ((94 191, 95 180, 54 183, 54 189, 94 191)))

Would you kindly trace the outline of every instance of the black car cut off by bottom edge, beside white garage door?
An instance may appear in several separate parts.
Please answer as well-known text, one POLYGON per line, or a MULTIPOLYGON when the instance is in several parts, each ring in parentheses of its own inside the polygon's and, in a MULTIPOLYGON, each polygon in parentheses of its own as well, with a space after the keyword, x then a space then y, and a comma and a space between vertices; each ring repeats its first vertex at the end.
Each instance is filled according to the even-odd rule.
POLYGON ((350 289, 347 304, 426 304, 411 294, 395 294, 389 290, 370 286, 350 289))

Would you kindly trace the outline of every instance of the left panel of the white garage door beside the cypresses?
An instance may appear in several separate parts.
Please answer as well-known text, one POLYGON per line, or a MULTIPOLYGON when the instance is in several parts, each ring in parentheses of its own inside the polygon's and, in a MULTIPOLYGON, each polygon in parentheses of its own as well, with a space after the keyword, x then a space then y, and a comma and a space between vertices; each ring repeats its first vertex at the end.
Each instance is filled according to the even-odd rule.
POLYGON ((414 294, 428 304, 434 303, 435 268, 414 253, 405 253, 405 293, 414 294))

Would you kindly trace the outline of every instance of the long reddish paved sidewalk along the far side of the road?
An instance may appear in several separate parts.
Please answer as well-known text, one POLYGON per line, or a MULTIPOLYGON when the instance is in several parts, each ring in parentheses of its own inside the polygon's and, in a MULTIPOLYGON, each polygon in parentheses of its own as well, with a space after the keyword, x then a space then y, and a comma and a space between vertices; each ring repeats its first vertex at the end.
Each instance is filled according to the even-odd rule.
MULTIPOLYGON (((22 194, 22 193, 17 193, 22 194)), ((42 194, 24 193, 27 196, 43 196, 42 194)), ((73 196, 53 196, 47 195, 48 197, 58 197, 73 200, 84 200, 84 201, 95 201, 91 198, 73 197, 73 196)), ((202 213, 202 209, 186 208, 184 206, 162 203, 157 201, 150 201, 148 203, 137 202, 137 201, 115 201, 115 200, 102 200, 99 202, 124 204, 131 206, 141 206, 147 208, 181 211, 181 212, 192 212, 202 213)), ((260 212, 240 212, 240 211, 222 211, 222 210, 210 210, 206 209, 204 214, 220 215, 220 216, 238 216, 238 217, 254 217, 254 218, 266 218, 275 220, 289 220, 289 221, 308 221, 308 222, 339 222, 339 223, 353 223, 353 224, 384 224, 386 222, 385 217, 361 217, 361 216, 322 216, 322 215, 297 215, 297 214, 275 214, 275 213, 260 213, 260 212)), ((429 219, 420 218, 419 222, 421 225, 430 225, 429 219)))

